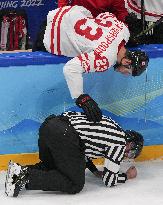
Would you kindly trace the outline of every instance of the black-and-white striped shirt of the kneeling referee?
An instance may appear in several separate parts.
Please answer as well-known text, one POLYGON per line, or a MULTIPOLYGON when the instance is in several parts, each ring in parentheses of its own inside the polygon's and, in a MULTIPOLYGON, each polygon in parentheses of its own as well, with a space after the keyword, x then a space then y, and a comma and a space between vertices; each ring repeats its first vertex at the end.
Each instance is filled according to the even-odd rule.
POLYGON ((106 116, 98 123, 87 120, 81 112, 65 112, 71 125, 79 133, 85 144, 85 155, 90 159, 103 157, 103 182, 106 186, 114 186, 126 181, 126 174, 120 173, 120 162, 126 148, 124 130, 111 118, 106 116))

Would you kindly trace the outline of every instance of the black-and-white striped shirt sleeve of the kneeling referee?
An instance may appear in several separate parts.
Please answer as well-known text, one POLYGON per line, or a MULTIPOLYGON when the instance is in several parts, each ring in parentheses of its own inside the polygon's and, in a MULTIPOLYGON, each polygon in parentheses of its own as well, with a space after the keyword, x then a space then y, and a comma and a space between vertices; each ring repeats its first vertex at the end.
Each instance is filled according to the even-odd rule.
POLYGON ((107 148, 103 171, 103 182, 106 186, 112 187, 125 183, 127 180, 127 175, 119 172, 124 152, 124 145, 115 145, 107 148))

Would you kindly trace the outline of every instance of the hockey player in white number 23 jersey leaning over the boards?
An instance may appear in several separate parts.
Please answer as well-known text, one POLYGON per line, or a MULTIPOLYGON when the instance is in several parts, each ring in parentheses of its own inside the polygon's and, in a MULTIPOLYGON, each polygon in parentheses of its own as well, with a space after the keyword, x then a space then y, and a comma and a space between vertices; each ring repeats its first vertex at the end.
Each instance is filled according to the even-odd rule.
POLYGON ((98 104, 83 91, 83 73, 115 71, 139 76, 148 66, 148 56, 141 50, 129 51, 127 26, 114 14, 101 13, 93 18, 82 6, 65 6, 49 12, 34 51, 46 50, 55 55, 73 57, 64 68, 71 97, 87 119, 98 122, 102 112, 98 104))

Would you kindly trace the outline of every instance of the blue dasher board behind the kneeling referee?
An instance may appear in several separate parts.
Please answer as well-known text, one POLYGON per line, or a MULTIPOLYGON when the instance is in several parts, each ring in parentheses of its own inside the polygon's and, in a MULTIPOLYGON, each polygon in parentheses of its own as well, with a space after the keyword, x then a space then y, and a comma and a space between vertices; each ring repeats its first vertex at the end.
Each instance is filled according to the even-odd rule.
MULTIPOLYGON (((110 68, 84 74, 84 90, 124 129, 145 145, 163 144, 163 46, 142 46, 150 56, 147 73, 125 77, 110 68), (146 75, 147 74, 147 75, 146 75)), ((0 155, 38 151, 38 128, 50 114, 79 110, 63 75, 69 59, 44 52, 0 54, 0 155)))

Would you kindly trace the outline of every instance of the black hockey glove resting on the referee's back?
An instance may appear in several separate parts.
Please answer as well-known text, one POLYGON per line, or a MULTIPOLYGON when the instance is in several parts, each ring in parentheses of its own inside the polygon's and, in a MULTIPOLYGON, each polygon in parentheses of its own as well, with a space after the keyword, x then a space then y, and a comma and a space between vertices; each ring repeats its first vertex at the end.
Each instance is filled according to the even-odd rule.
POLYGON ((98 104, 89 95, 80 95, 76 100, 76 105, 83 109, 89 121, 99 122, 101 120, 102 112, 98 104))

